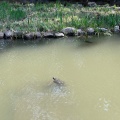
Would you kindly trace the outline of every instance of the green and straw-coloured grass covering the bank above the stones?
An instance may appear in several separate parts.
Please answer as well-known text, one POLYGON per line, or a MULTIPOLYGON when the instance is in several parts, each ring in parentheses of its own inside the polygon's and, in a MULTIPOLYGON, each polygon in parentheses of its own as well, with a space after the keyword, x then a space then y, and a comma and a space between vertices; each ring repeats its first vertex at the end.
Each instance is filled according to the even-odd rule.
POLYGON ((120 23, 116 6, 82 7, 78 4, 26 4, 0 2, 0 30, 60 31, 65 27, 113 28, 120 23))

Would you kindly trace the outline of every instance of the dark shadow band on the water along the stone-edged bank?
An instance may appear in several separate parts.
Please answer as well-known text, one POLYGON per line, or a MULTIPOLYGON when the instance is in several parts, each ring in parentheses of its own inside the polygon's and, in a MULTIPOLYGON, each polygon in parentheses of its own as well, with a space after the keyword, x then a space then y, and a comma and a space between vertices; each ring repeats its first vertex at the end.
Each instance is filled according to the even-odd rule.
MULTIPOLYGON (((120 35, 113 35, 114 41, 119 42, 118 39, 120 35)), ((66 41, 67 43, 77 43, 78 48, 93 47, 95 45, 101 44, 105 41, 111 41, 111 36, 100 36, 100 37, 89 37, 89 38, 76 38, 76 37, 66 37, 60 39, 37 39, 37 40, 1 40, 0 41, 0 53, 6 52, 9 49, 15 47, 35 47, 35 46, 45 46, 54 43, 55 41, 66 41)))

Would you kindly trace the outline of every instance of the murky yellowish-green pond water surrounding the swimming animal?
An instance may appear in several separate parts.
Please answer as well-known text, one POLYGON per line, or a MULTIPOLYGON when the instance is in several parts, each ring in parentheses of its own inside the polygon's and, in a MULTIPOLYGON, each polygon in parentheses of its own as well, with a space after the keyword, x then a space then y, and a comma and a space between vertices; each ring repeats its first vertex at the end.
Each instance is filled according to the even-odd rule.
POLYGON ((0 120, 119 120, 119 37, 91 40, 1 41, 0 120))

